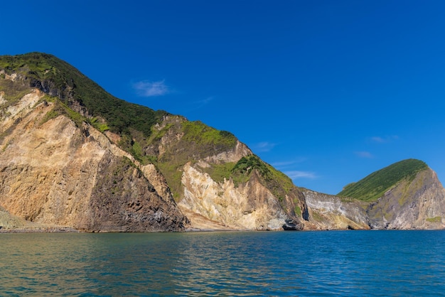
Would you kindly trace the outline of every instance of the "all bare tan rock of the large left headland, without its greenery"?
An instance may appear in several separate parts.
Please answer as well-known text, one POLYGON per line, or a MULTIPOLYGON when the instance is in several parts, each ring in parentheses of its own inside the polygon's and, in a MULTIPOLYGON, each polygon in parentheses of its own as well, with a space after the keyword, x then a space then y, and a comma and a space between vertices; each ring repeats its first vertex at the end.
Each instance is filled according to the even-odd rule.
MULTIPOLYGON (((179 206, 189 221, 156 166, 137 162, 88 124, 77 127, 63 115, 46 120, 54 103, 44 98, 34 89, 9 103, 1 119, 0 205, 11 215, 88 232, 282 229, 299 220, 285 212, 256 173, 235 187, 233 180, 218 183, 203 171, 211 163, 235 163, 252 154, 237 142, 231 150, 178 167, 179 206)), ((172 120, 177 119, 165 119, 172 120)), ((159 140, 160 156, 183 136, 172 131, 159 140)), ((295 202, 300 203, 290 201, 291 209, 295 202)))

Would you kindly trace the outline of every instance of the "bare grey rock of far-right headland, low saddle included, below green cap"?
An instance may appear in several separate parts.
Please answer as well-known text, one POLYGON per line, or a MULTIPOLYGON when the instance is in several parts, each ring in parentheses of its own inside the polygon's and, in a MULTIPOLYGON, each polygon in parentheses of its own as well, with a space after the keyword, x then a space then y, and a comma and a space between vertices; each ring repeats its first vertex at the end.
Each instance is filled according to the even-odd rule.
POLYGON ((303 190, 306 229, 444 229, 445 190, 430 168, 405 178, 375 202, 303 190))

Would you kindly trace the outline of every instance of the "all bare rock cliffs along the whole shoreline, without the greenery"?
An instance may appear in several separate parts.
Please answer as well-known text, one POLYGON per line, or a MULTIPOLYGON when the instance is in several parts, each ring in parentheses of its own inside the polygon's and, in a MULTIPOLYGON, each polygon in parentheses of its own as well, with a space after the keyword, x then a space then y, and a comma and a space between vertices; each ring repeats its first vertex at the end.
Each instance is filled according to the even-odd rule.
MULTIPOLYGON (((0 92, 2 228, 73 227, 87 232, 445 228, 445 190, 430 169, 372 203, 298 188, 276 197, 274 185, 264 186, 255 172, 237 186, 231 179, 216 182, 205 173, 212 164, 236 163, 250 156, 252 151, 239 141, 227 151, 178 168, 182 192, 176 205, 156 166, 134 160, 115 144, 117 135, 102 134, 85 123, 76 126, 64 115, 48 117, 54 105, 43 97, 41 91, 31 90, 14 102, 0 92)), ((183 119, 165 121, 178 125, 183 119)), ((162 123, 158 128, 163 129, 162 123)), ((168 130, 149 149, 173 158, 183 152, 176 142, 182 137, 178 130, 168 130)))

